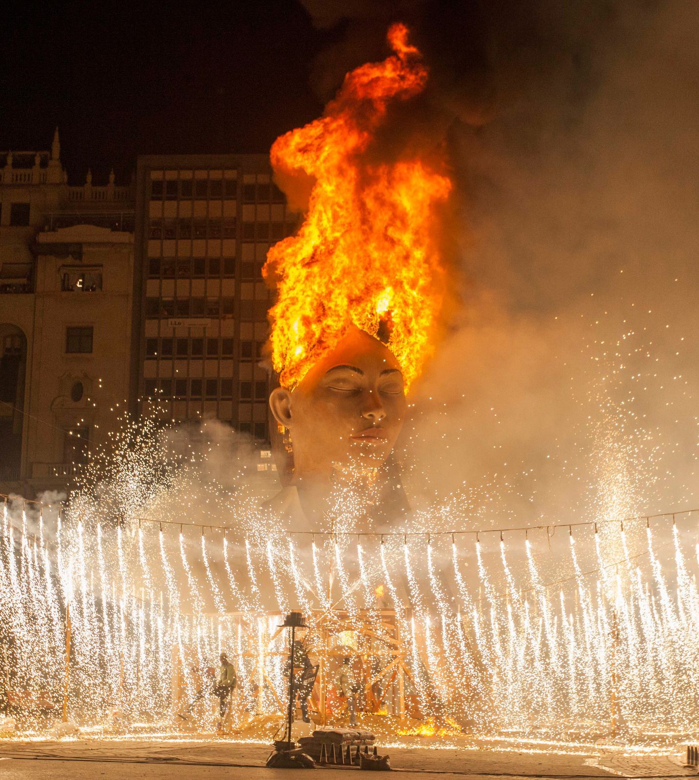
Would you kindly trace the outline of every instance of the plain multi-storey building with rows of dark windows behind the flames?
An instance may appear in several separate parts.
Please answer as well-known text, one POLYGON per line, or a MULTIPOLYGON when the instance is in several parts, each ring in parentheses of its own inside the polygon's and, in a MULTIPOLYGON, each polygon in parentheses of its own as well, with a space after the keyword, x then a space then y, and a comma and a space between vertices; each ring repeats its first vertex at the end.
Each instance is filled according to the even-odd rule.
POLYGON ((141 157, 137 204, 141 409, 156 398, 165 418, 222 420, 267 456, 269 374, 259 363, 272 293, 261 268, 297 222, 268 157, 141 157))

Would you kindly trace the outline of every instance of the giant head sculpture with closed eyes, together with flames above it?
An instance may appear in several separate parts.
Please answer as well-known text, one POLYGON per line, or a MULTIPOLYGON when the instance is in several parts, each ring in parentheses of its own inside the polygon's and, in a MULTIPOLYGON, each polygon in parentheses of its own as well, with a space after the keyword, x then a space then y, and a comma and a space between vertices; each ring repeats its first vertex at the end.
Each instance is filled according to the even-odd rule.
POLYGON ((428 79, 406 27, 388 38, 392 55, 348 73, 320 119, 271 148, 289 200, 305 192, 303 225, 263 269, 277 290, 270 407, 284 487, 272 506, 295 527, 322 515, 333 480, 381 493, 444 297, 438 205, 451 182, 414 149, 377 160, 390 105, 428 79))

